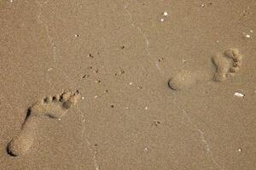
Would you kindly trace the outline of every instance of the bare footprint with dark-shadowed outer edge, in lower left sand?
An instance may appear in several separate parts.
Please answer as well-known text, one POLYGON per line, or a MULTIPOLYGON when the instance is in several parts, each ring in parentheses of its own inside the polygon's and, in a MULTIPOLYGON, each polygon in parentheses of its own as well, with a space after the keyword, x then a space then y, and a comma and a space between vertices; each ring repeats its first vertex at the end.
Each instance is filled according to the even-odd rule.
POLYGON ((10 156, 24 155, 34 144, 38 122, 44 117, 61 118, 68 109, 76 105, 81 98, 79 92, 64 91, 60 95, 50 96, 32 105, 27 112, 26 120, 20 134, 12 139, 7 147, 10 156))

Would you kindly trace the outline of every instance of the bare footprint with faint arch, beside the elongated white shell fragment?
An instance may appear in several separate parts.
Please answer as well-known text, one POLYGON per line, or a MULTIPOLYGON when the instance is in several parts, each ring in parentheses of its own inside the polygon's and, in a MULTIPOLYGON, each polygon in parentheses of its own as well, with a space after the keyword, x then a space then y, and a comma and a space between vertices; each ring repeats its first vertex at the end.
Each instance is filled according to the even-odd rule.
POLYGON ((243 56, 237 48, 230 48, 224 51, 224 54, 217 54, 212 57, 212 63, 216 71, 213 77, 200 72, 182 71, 168 81, 168 85, 173 90, 190 88, 196 82, 206 82, 208 77, 215 82, 224 82, 230 77, 234 77, 241 68, 241 59, 243 56))

